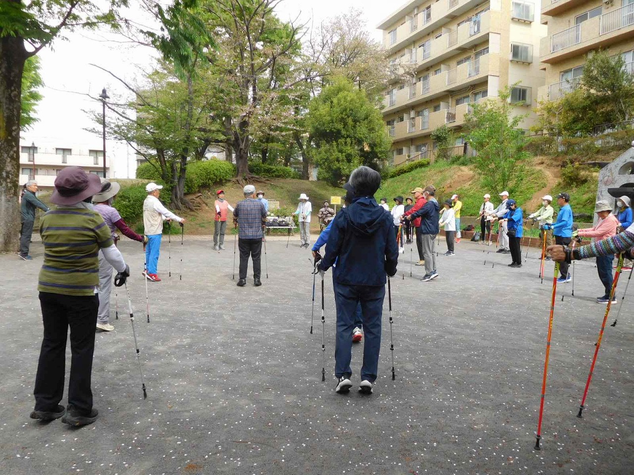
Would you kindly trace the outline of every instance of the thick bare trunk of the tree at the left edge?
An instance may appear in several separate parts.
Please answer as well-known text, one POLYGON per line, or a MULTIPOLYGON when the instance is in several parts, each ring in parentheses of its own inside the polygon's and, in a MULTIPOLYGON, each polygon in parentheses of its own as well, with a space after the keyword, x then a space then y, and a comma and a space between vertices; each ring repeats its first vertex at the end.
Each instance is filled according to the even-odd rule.
POLYGON ((21 37, 0 37, 0 251, 18 249, 20 112, 27 51, 21 37))

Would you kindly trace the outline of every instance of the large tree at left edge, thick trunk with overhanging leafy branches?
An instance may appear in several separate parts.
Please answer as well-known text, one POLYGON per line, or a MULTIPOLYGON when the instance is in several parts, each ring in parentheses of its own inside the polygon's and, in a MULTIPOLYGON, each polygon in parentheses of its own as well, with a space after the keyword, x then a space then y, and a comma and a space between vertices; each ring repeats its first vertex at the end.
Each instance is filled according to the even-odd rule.
POLYGON ((117 26, 127 0, 0 1, 0 251, 17 246, 20 120, 26 61, 73 28, 117 26))

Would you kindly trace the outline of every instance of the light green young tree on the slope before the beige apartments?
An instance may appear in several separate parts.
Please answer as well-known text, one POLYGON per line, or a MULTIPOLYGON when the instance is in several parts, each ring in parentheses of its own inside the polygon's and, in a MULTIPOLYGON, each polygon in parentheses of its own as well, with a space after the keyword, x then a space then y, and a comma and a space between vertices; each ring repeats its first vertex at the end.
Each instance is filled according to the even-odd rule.
POLYGON ((475 103, 473 112, 465 116, 465 139, 477 151, 474 157, 482 186, 491 190, 507 189, 511 194, 522 181, 526 138, 519 129, 526 115, 514 115, 508 99, 510 87, 500 91, 499 98, 475 103))

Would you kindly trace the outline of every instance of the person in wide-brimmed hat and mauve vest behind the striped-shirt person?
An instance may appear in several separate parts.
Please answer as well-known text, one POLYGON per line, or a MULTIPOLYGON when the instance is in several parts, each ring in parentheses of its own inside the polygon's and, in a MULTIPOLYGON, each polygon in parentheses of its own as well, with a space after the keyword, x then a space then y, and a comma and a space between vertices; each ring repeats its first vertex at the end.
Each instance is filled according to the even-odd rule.
MULTIPOLYGON (((148 238, 146 236, 139 236, 136 232, 132 231, 122 219, 121 215, 116 208, 112 206, 112 202, 119 193, 121 186, 117 182, 104 181, 101 184, 101 191, 93 196, 94 210, 98 212, 103 221, 110 229, 112 241, 117 245, 119 241, 120 231, 124 236, 127 236, 139 243, 147 243, 148 238)), ((110 324, 110 291, 112 289, 112 265, 103 256, 103 252, 99 251, 99 311, 97 312, 97 328, 102 331, 112 331, 115 329, 110 324)))

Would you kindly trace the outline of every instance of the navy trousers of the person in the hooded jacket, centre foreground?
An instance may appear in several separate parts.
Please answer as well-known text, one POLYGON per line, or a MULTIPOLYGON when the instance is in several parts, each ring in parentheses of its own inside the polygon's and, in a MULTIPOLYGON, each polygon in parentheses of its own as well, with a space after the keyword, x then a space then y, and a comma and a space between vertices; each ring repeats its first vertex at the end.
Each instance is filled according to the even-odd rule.
POLYGON ((352 359, 354 315, 360 303, 361 313, 363 315, 363 331, 365 333, 361 380, 367 379, 373 383, 375 379, 377 379, 384 298, 384 286, 349 286, 346 284, 337 284, 335 287, 335 300, 337 301, 335 376, 341 377, 346 375, 349 377, 353 374, 350 367, 350 360, 352 359))

